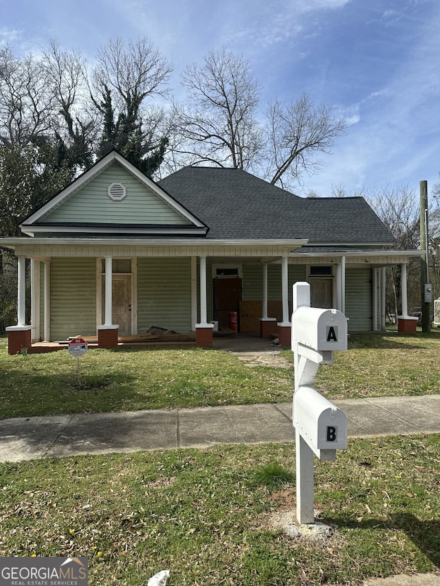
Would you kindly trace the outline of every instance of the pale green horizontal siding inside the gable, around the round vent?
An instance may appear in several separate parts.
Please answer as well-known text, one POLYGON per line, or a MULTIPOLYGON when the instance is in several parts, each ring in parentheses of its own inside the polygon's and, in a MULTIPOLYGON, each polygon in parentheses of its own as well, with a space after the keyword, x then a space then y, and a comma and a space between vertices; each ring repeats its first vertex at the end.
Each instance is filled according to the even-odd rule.
POLYGON ((113 163, 70 199, 44 218, 45 222, 116 224, 179 224, 188 221, 173 210, 120 164, 113 163), (107 195, 111 183, 122 183, 126 196, 113 201, 107 195))

